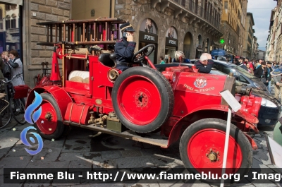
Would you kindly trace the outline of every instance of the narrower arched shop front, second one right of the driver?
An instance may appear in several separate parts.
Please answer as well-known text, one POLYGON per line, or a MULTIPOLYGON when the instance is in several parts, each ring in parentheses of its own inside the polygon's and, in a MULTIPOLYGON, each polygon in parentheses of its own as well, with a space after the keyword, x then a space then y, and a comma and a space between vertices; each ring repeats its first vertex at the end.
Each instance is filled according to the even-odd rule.
POLYGON ((164 59, 166 63, 171 63, 174 59, 174 54, 178 50, 178 36, 176 29, 168 28, 166 31, 166 48, 164 59))

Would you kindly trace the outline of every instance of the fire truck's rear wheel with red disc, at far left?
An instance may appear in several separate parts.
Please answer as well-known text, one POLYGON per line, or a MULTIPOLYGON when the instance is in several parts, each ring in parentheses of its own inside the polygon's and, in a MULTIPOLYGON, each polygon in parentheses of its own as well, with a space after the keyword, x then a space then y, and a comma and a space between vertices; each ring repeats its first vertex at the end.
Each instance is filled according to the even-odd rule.
POLYGON ((40 104, 42 113, 35 122, 35 127, 43 138, 49 140, 52 138, 57 139, 63 133, 64 128, 61 111, 52 95, 47 93, 40 95, 42 96, 42 103, 40 104))

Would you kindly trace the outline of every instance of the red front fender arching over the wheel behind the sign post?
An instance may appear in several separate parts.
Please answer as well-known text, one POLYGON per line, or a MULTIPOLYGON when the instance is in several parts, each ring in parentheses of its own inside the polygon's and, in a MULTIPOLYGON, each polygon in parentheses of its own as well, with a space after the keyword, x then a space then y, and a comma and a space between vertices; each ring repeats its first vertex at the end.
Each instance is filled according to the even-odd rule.
MULTIPOLYGON (((171 128, 171 132, 169 133, 168 146, 178 140, 181 130, 183 128, 183 125, 181 124, 183 124, 183 121, 185 121, 185 119, 192 119, 192 121, 190 121, 190 124, 194 123, 197 120, 205 119, 209 117, 211 118, 217 117, 219 119, 227 120, 227 112, 228 112, 228 106, 220 105, 220 104, 206 105, 206 106, 202 106, 202 107, 198 107, 197 109, 194 109, 189 114, 175 121, 175 124, 173 125, 173 128, 171 128), (210 116, 211 113, 215 114, 215 116, 210 116)), ((232 113, 232 118, 233 119, 244 119, 244 121, 240 121, 240 123, 243 123, 243 126, 244 126, 243 128, 240 127, 242 131, 252 128, 256 133, 259 133, 257 126, 255 126, 255 124, 257 124, 259 120, 255 116, 252 116, 251 114, 248 114, 245 111, 239 110, 237 112, 232 113)))

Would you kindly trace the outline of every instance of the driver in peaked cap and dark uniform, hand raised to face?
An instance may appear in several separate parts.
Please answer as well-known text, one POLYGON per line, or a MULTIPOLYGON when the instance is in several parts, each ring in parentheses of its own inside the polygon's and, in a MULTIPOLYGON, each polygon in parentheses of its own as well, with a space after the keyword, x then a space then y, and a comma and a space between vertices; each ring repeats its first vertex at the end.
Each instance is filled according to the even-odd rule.
POLYGON ((123 37, 116 42, 116 68, 125 71, 130 68, 134 55, 136 42, 133 42, 133 35, 135 30, 130 23, 123 23, 120 29, 123 37))

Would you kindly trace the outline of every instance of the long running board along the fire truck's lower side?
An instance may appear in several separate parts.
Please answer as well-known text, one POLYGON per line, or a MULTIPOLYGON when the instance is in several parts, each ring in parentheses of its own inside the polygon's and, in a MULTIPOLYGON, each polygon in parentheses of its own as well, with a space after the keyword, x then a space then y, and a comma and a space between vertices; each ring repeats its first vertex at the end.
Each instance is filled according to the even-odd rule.
POLYGON ((135 140, 135 141, 142 142, 142 143, 149 143, 149 144, 157 145, 157 146, 164 147, 164 148, 168 147, 168 138, 162 135, 154 134, 154 133, 139 133, 140 135, 137 135, 135 132, 130 131, 130 130, 119 133, 116 131, 111 131, 106 128, 94 126, 93 124, 85 126, 85 125, 80 125, 79 123, 74 123, 71 121, 63 121, 63 123, 68 123, 71 126, 87 128, 92 131, 98 131, 98 132, 107 133, 110 135, 116 135, 121 138, 128 138, 130 140, 135 140))

